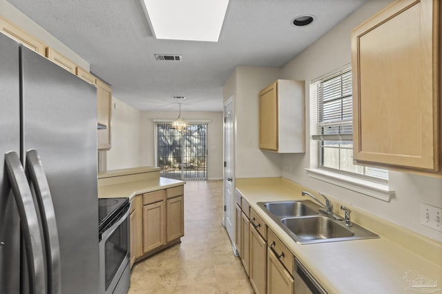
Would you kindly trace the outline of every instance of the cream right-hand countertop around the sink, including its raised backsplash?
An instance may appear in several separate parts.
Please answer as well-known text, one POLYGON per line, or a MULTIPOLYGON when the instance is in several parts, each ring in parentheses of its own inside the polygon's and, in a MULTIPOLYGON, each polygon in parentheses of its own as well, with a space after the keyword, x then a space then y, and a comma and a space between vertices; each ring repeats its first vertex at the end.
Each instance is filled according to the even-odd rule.
MULTIPOLYGON (((440 242, 330 198, 334 207, 345 204, 352 209, 352 221, 380 235, 380 238, 298 244, 258 207, 257 202, 311 200, 302 197, 301 192, 315 191, 284 178, 237 179, 236 188, 267 227, 329 294, 414 293, 418 290, 416 286, 419 286, 419 279, 421 282, 433 282, 441 291, 440 242), (413 283, 415 287, 410 287, 413 283)), ((421 288, 430 290, 429 287, 421 288)), ((439 291, 436 293, 440 293, 439 291)))

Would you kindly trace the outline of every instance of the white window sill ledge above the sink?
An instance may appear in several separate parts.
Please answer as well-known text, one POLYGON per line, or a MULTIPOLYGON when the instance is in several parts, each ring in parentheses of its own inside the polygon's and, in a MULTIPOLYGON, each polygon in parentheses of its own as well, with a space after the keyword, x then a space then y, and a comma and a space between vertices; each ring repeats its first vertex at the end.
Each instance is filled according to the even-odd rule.
POLYGON ((336 174, 332 171, 325 171, 323 169, 305 169, 309 177, 328 182, 330 184, 343 187, 358 193, 363 193, 367 196, 390 202, 394 191, 390 190, 387 184, 371 182, 361 178, 354 178, 343 174, 336 174))

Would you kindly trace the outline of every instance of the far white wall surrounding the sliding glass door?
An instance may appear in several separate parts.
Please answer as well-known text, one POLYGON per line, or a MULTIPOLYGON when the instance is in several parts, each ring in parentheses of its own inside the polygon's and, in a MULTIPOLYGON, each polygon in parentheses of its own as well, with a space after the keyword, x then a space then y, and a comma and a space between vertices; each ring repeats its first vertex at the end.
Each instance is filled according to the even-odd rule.
MULTIPOLYGON (((221 98, 221 97, 220 97, 221 98)), ((222 145, 222 112, 182 112, 185 120, 210 120, 208 130, 207 178, 222 179, 223 145, 222 145)), ((156 166, 155 162, 155 123, 153 119, 175 119, 177 112, 141 112, 140 138, 142 146, 142 165, 156 166)))

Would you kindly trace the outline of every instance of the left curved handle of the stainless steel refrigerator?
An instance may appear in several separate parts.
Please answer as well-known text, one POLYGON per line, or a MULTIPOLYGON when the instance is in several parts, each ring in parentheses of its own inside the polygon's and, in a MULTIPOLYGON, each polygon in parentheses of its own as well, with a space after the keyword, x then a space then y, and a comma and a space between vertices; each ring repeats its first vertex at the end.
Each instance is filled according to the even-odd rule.
POLYGON ((14 192, 17 210, 19 211, 21 230, 23 231, 28 260, 28 275, 31 294, 46 294, 46 271, 44 244, 41 239, 41 228, 37 216, 28 179, 15 151, 5 154, 6 173, 14 192))

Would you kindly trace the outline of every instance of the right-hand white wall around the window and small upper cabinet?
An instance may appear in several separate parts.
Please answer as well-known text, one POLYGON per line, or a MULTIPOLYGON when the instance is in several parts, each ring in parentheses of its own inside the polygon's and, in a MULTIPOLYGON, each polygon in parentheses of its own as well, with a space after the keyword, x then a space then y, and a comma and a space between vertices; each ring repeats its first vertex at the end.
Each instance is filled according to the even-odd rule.
POLYGON ((281 176, 282 165, 289 165, 287 178, 332 198, 347 202, 376 216, 390 220, 434 240, 442 233, 419 222, 421 203, 442 207, 442 180, 390 171, 390 202, 378 200, 336 185, 310 178, 305 168, 317 167, 318 148, 309 134, 309 81, 333 72, 351 62, 350 34, 353 28, 390 4, 392 0, 371 0, 332 28, 281 69, 237 67, 224 85, 224 102, 234 98, 236 119, 236 178, 281 176), (268 154, 258 148, 258 92, 276 78, 306 81, 305 154, 268 154))

